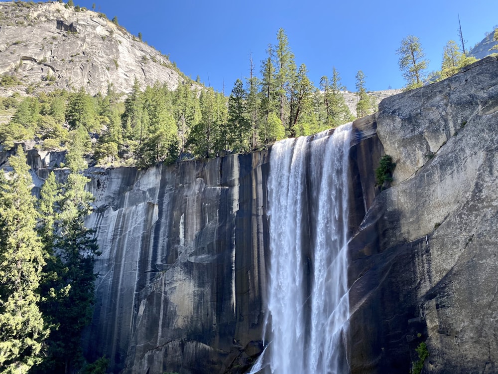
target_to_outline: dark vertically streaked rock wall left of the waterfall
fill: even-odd
[[[124,373],[223,373],[257,356],[266,157],[89,170],[103,251],[90,355]]]

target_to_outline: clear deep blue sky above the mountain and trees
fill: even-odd
[[[418,36],[429,70],[440,69],[443,47],[458,38],[458,14],[467,46],[498,24],[498,0],[73,0],[96,4],[133,34],[169,54],[185,74],[230,94],[237,78],[249,76],[249,55],[260,61],[276,32],[285,29],[296,64],[306,64],[315,86],[339,71],[355,91],[358,70],[367,90],[405,83],[395,54],[408,34]],[[209,77],[209,82],[208,82]]]

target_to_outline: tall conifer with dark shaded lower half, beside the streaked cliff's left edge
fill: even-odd
[[[40,192],[39,232],[48,253],[41,309],[56,328],[46,340],[44,361],[34,374],[68,374],[81,367],[81,334],[93,312],[93,265],[100,252],[94,231],[84,224],[93,196],[85,190],[89,179],[74,165],[72,170],[63,185],[50,175]]]

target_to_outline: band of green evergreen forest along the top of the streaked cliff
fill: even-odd
[[[12,117],[0,130],[0,142],[8,149],[36,140],[46,151],[77,148],[93,165],[144,168],[249,152],[354,119],[341,94],[339,72],[333,68],[316,88],[306,65],[296,65],[283,29],[266,55],[259,71],[249,61],[250,76],[237,79],[228,97],[185,80],[175,90],[159,83],[140,87],[135,81],[126,96],[111,83],[95,96],[80,88],[2,98],[0,109]],[[364,79],[359,87],[361,114],[372,113],[375,103],[366,95]]]

